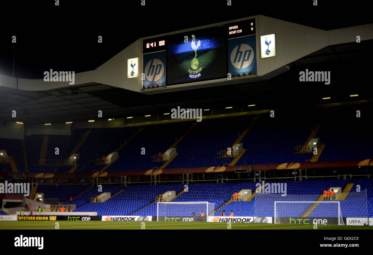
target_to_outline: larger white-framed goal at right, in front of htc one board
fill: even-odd
[[[275,223],[344,225],[339,201],[275,201],[274,209]]]

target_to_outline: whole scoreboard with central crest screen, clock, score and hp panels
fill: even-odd
[[[255,19],[143,40],[142,87],[256,73]]]

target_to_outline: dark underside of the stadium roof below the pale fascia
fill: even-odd
[[[335,86],[301,86],[294,77],[299,70],[317,66],[317,70],[338,71],[349,63],[359,62],[367,57],[367,48],[373,47],[373,40],[364,44],[349,43],[331,45],[289,64],[290,71],[269,80],[254,83],[217,86],[179,92],[144,95],[107,85],[91,83],[74,85],[44,91],[25,91],[0,86],[0,119],[12,121],[10,112],[17,111],[17,119],[27,124],[87,120],[97,117],[102,110],[106,118],[123,118],[144,114],[163,114],[175,106],[192,108],[222,108],[227,105],[247,106],[255,103],[256,109],[303,107],[323,104],[325,96],[329,102],[356,101],[369,102],[372,98],[371,86],[360,84],[359,76],[369,73],[369,66],[351,65],[346,76],[333,77]],[[368,56],[369,57],[369,56]],[[370,58],[372,53],[370,53]],[[334,68],[330,66],[335,66]],[[355,81],[355,83],[354,83]],[[358,85],[359,83],[360,85]],[[72,95],[76,91],[77,95]],[[311,92],[311,93],[310,93]],[[351,94],[359,94],[350,98]],[[362,101],[368,100],[368,101]]]

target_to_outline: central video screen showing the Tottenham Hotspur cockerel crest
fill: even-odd
[[[226,77],[224,27],[170,36],[167,44],[167,84]]]

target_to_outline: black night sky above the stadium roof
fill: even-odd
[[[0,73],[43,79],[44,71],[94,70],[141,37],[254,15],[324,30],[373,23],[364,0],[54,0],[0,2]],[[366,6],[366,8],[364,8]],[[16,44],[12,44],[12,36]],[[97,37],[103,36],[103,43]]]

